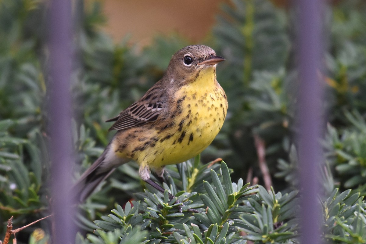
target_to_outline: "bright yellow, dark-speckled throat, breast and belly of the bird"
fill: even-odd
[[[149,146],[144,150],[132,150],[131,147],[120,157],[131,157],[139,165],[159,169],[193,158],[209,146],[224,123],[228,107],[214,68],[202,70],[195,82],[180,87],[175,93],[175,101],[174,106],[179,109],[172,118],[172,126],[164,130],[158,127],[143,129],[141,132]],[[145,143],[141,138],[139,141],[142,145]]]

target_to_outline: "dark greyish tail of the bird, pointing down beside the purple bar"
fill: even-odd
[[[119,159],[116,164],[116,157],[110,154],[110,144],[100,155],[100,157],[87,169],[72,187],[71,193],[74,199],[79,203],[85,201],[86,198],[96,189],[96,187],[104,181],[118,165],[123,164],[126,160]]]

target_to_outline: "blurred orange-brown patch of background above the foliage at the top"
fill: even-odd
[[[91,1],[91,0],[90,0]],[[208,35],[220,13],[222,3],[230,0],[100,0],[107,22],[104,30],[115,42],[130,34],[130,42],[149,44],[157,34],[179,33],[192,42]],[[286,0],[273,0],[286,5]]]

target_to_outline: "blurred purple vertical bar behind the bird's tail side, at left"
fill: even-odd
[[[51,0],[48,21],[49,131],[51,135],[52,243],[74,243],[70,198],[71,141],[71,0]]]

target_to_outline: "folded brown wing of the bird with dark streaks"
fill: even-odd
[[[164,90],[158,88],[158,86],[153,86],[141,100],[123,110],[119,116],[107,120],[107,122],[116,121],[109,130],[127,129],[157,120],[160,113],[164,112],[167,107],[165,106]]]

